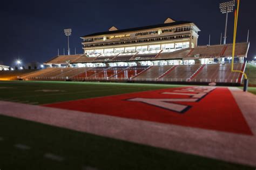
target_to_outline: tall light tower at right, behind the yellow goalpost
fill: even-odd
[[[235,6],[235,0],[229,2],[220,3],[220,12],[226,13],[226,26],[225,26],[225,34],[223,44],[226,44],[227,39],[227,16],[229,12],[233,12]]]

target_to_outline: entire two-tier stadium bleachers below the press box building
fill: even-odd
[[[235,56],[246,56],[248,43],[236,45]],[[92,67],[49,67],[47,69],[29,72],[21,76],[24,80],[33,79],[56,79],[56,80],[132,80],[132,81],[192,81],[192,82],[217,82],[217,83],[240,83],[241,74],[231,72],[231,64],[190,64],[190,65],[153,65],[152,61],[168,59],[201,59],[230,57],[232,55],[232,44],[197,46],[194,49],[186,48],[173,52],[158,50],[150,52],[127,52],[112,55],[97,55],[88,57],[86,55],[57,56],[45,64],[71,64],[83,63],[114,63],[107,66]],[[139,63],[139,61],[151,61],[151,63]],[[124,66],[123,62],[134,62],[137,66]],[[146,64],[146,65],[145,65]],[[156,63],[154,63],[156,64]],[[171,64],[171,63],[169,63]],[[110,65],[110,66],[109,66]],[[126,65],[126,64],[125,64]],[[129,64],[128,64],[129,65]],[[234,64],[235,70],[243,71],[245,65]],[[1,73],[0,73],[1,75]],[[2,76],[3,77],[3,76]],[[17,76],[16,76],[17,77]],[[0,77],[1,78],[1,77]]]

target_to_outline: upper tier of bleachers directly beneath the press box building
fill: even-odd
[[[235,56],[245,57],[247,55],[249,43],[237,43]],[[197,58],[196,58],[197,56]],[[175,59],[175,58],[210,58],[210,57],[230,57],[232,56],[232,44],[226,45],[205,45],[197,46],[194,49],[186,48],[173,52],[159,53],[116,53],[112,56],[98,55],[98,57],[87,57],[86,55],[57,56],[45,64],[66,64],[66,63],[96,63],[96,62],[127,62],[136,60],[152,59]]]

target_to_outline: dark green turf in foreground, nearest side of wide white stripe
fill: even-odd
[[[12,170],[82,169],[254,169],[196,155],[99,137],[0,115],[0,168]],[[28,150],[14,147],[30,146]],[[44,158],[52,153],[64,158]],[[84,168],[86,169],[86,168]]]

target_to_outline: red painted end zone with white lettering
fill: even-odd
[[[252,135],[227,87],[182,87],[44,106]]]

